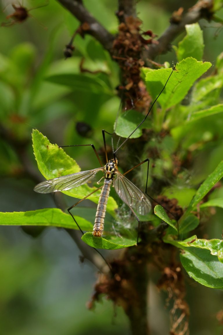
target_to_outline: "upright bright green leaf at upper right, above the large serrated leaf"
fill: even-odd
[[[181,61],[187,57],[193,57],[198,61],[203,59],[204,40],[203,32],[198,23],[185,25],[187,35],[179,42],[177,50],[177,59]]]

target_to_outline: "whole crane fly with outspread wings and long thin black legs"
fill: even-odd
[[[174,66],[174,69],[175,69],[175,66]],[[174,69],[173,69],[173,71],[174,71]],[[173,73],[173,71],[171,72],[171,74]],[[170,74],[170,76],[171,76],[171,74]],[[169,78],[170,78],[170,76],[169,76]],[[169,78],[168,78],[168,80],[169,80]],[[168,80],[166,81],[166,83],[165,83],[163,89],[161,90],[161,92],[159,93],[159,95],[164,90]],[[152,107],[153,107],[154,103],[156,102],[156,100],[158,99],[159,95],[154,100],[150,110],[152,109]],[[40,184],[37,184],[34,187],[34,191],[38,192],[38,193],[51,193],[51,192],[58,192],[58,191],[68,191],[70,189],[73,189],[75,187],[79,187],[83,184],[88,183],[89,181],[91,181],[96,176],[96,174],[99,171],[102,171],[104,173],[104,184],[102,186],[100,186],[99,188],[97,188],[96,190],[94,190],[93,192],[91,192],[89,195],[87,195],[83,199],[81,199],[80,201],[78,201],[76,204],[74,204],[73,206],[68,208],[68,212],[71,214],[71,216],[73,217],[77,226],[79,227],[81,232],[84,234],[84,232],[82,231],[82,229],[78,225],[76,219],[74,218],[73,214],[71,213],[71,209],[73,207],[75,207],[77,204],[79,204],[80,202],[82,202],[83,200],[85,200],[86,198],[88,198],[94,192],[101,189],[101,194],[100,194],[99,201],[98,201],[96,217],[95,217],[95,222],[94,222],[94,227],[93,227],[93,236],[101,237],[102,233],[103,233],[103,230],[104,230],[104,221],[105,221],[105,213],[106,213],[108,197],[109,197],[111,186],[113,186],[116,193],[118,194],[118,196],[121,198],[121,200],[125,204],[127,204],[129,206],[129,208],[131,209],[135,218],[137,219],[137,221],[138,221],[138,232],[139,232],[140,220],[139,220],[137,214],[135,213],[135,211],[138,214],[145,215],[150,211],[151,204],[150,204],[150,201],[148,200],[148,198],[145,196],[145,194],[142,191],[140,191],[139,188],[136,187],[124,175],[127,174],[128,172],[132,171],[133,169],[135,169],[137,166],[139,166],[139,165],[141,165],[145,162],[148,162],[148,165],[147,165],[147,180],[148,180],[149,159],[148,158],[145,159],[144,161],[140,162],[139,164],[137,164],[136,166],[132,167],[130,170],[125,172],[124,174],[121,174],[118,171],[117,151],[119,150],[119,148],[121,146],[123,146],[126,143],[126,141],[130,138],[130,136],[141,126],[141,124],[147,118],[150,110],[148,111],[145,118],[135,128],[135,130],[118,146],[118,148],[115,151],[113,150],[113,158],[110,159],[110,160],[108,160],[108,157],[107,157],[107,148],[106,148],[106,142],[105,142],[105,132],[106,131],[102,130],[103,140],[104,140],[104,148],[105,148],[105,156],[106,156],[106,161],[107,161],[107,163],[105,165],[102,164],[101,159],[100,159],[100,157],[99,157],[99,155],[98,155],[98,153],[97,153],[93,144],[80,145],[80,146],[87,146],[87,145],[92,146],[101,167],[98,167],[98,168],[93,169],[93,170],[81,171],[81,172],[77,172],[77,173],[74,173],[74,174],[71,174],[71,175],[66,175],[66,176],[46,180],[44,182],[41,182]],[[110,134],[110,133],[108,133],[108,134]],[[147,180],[146,180],[146,189],[147,189]],[[138,243],[138,236],[137,236],[137,243]]]

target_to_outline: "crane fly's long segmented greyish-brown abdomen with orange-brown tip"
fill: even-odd
[[[104,222],[105,222],[105,213],[106,213],[106,207],[110,192],[110,187],[112,184],[112,179],[105,179],[104,185],[101,190],[100,198],[98,201],[98,207],[95,217],[95,224],[93,227],[93,235],[94,236],[102,236],[103,229],[104,229]]]

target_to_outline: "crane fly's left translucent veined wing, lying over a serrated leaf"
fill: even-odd
[[[67,191],[87,183],[89,180],[95,177],[98,171],[103,170],[103,167],[99,167],[98,169],[94,170],[81,171],[73,173],[72,175],[45,180],[44,182],[37,184],[34,187],[34,191],[38,193]]]

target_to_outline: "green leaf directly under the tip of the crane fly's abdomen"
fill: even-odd
[[[82,241],[96,249],[116,250],[136,245],[136,241],[127,238],[119,238],[116,236],[108,236],[106,239],[95,237],[91,232],[87,232],[82,236]]]

